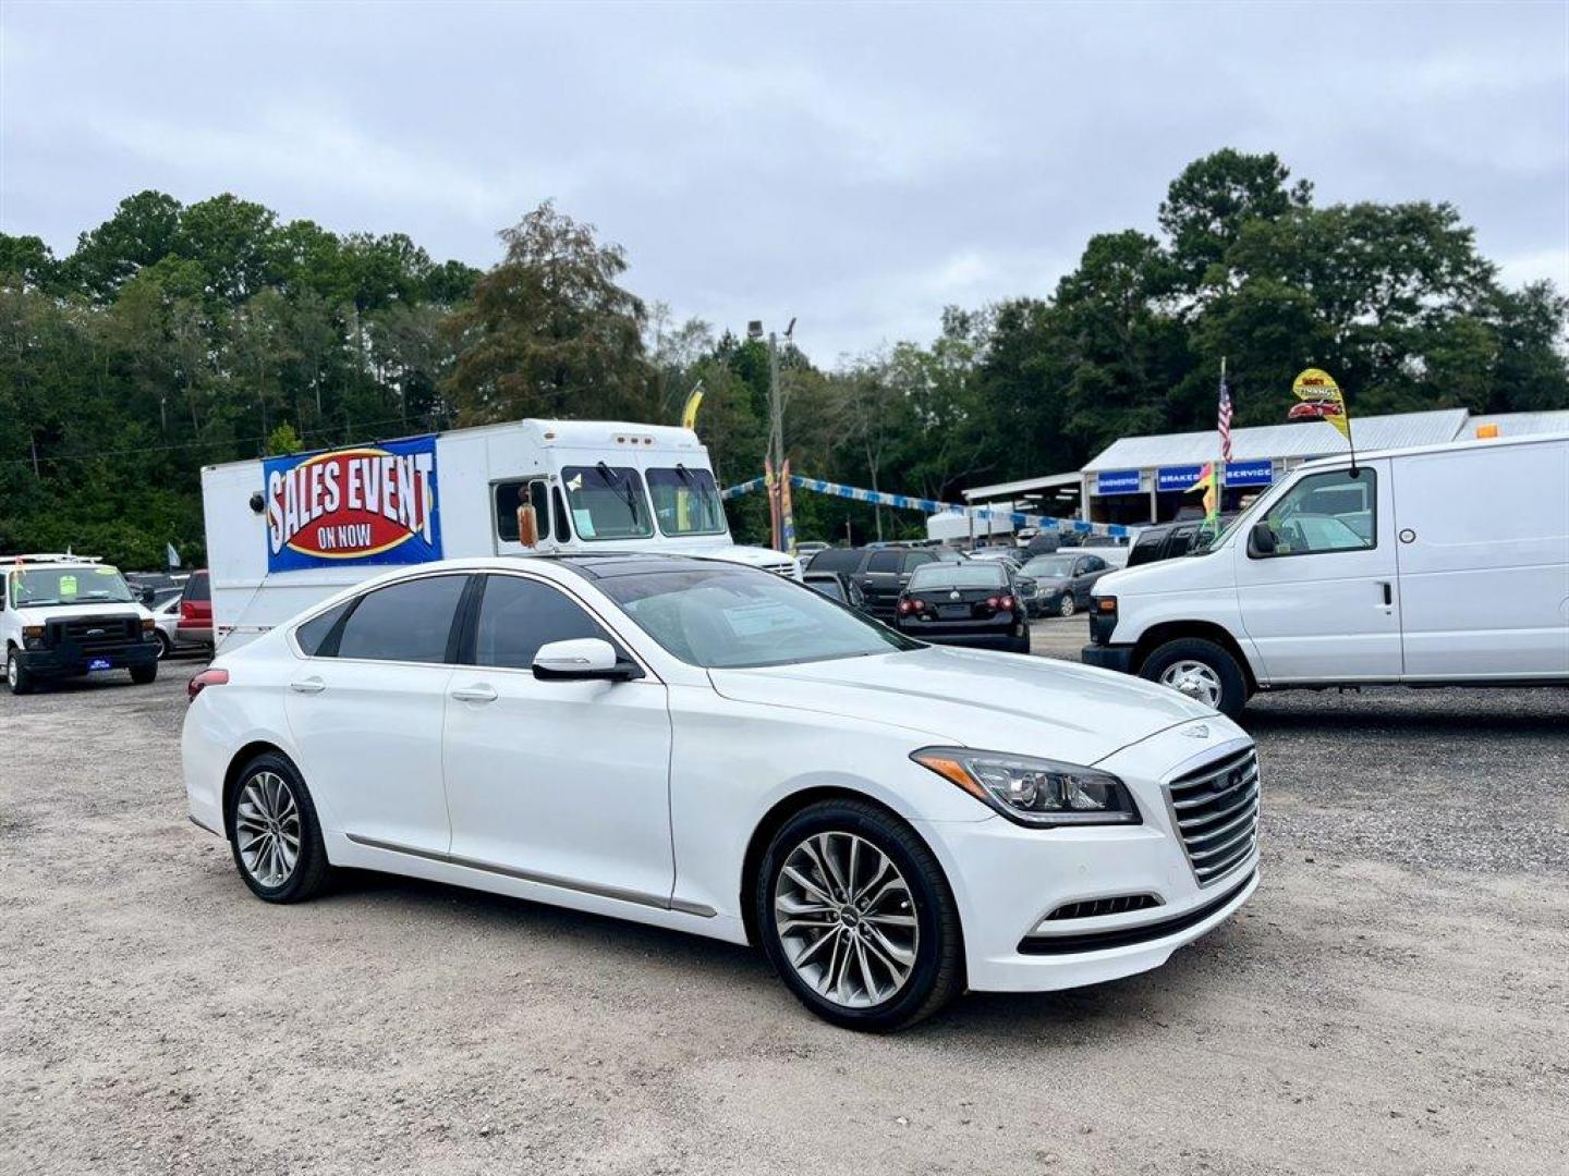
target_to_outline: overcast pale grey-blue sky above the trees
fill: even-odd
[[[546,198],[816,361],[1047,295],[1224,146],[1569,276],[1569,5],[0,5],[0,229],[143,188],[491,265]]]

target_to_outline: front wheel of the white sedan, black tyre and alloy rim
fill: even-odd
[[[963,989],[959,908],[937,858],[885,809],[811,804],[758,866],[756,925],[769,961],[835,1025],[913,1025]]]

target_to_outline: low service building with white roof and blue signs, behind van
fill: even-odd
[[[1359,452],[1437,445],[1461,437],[1569,433],[1569,411],[1472,416],[1464,408],[1352,417]],[[1255,425],[1232,430],[1232,461],[1225,467],[1222,510],[1246,506],[1261,489],[1304,461],[1346,452],[1340,433],[1323,420]],[[1188,492],[1207,463],[1219,456],[1219,436],[1167,433],[1120,437],[1073,474],[1050,474],[965,491],[971,505],[1014,503],[1014,510],[1054,517],[1145,525],[1175,519],[1183,506],[1199,506]]]

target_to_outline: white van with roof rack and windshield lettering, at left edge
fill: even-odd
[[[129,670],[158,676],[152,613],[118,568],[78,555],[0,558],[0,649],[13,695],[50,677]]]

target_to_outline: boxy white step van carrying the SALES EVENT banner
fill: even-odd
[[[452,557],[664,550],[800,579],[789,555],[736,546],[708,450],[667,425],[516,420],[209,466],[202,511],[220,651]]]

